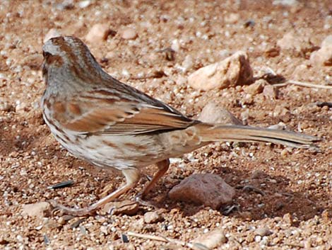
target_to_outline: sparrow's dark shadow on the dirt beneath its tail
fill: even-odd
[[[224,205],[218,210],[220,215],[237,217],[242,220],[263,220],[290,214],[297,218],[297,223],[300,223],[315,215],[320,215],[324,210],[332,212],[329,205],[331,198],[328,197],[328,194],[315,195],[307,189],[292,191],[292,180],[285,176],[263,173],[259,178],[251,178],[248,171],[227,167],[221,167],[214,174],[224,178],[236,191],[232,203]],[[236,178],[234,178],[235,176]],[[236,181],[232,181],[234,179]],[[157,208],[167,208],[169,211],[176,209],[184,217],[190,217],[205,209],[203,205],[170,200],[167,196],[170,189],[165,188],[165,185],[162,186],[160,183],[155,187],[157,190],[162,190],[160,195],[151,193],[147,198],[156,200],[153,205]]]

